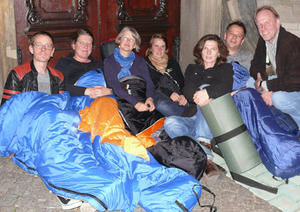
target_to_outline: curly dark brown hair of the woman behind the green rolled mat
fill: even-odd
[[[228,50],[227,47],[225,46],[224,42],[221,40],[221,38],[218,35],[215,34],[207,34],[204,35],[195,45],[194,47],[194,56],[196,57],[195,62],[198,64],[203,65],[204,61],[202,58],[202,50],[204,48],[204,44],[206,41],[208,40],[213,40],[216,41],[218,43],[218,49],[219,49],[219,53],[220,53],[220,57],[217,60],[217,64],[220,63],[225,63],[226,62],[226,58],[228,56]]]

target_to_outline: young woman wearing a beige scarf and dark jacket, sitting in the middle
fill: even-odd
[[[184,77],[176,60],[168,58],[168,40],[154,34],[146,51],[146,63],[155,85],[154,104],[164,116],[181,115],[187,100],[182,94]]]

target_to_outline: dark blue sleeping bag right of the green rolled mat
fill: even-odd
[[[282,178],[300,174],[299,132],[282,128],[256,90],[239,91],[233,99],[266,168]]]

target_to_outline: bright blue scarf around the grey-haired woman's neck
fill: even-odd
[[[119,48],[115,48],[114,51],[114,57],[115,60],[120,64],[121,66],[121,70],[118,74],[118,79],[122,79],[124,77],[130,76],[131,72],[130,72],[130,67],[132,62],[134,61],[135,58],[135,54],[133,53],[133,51],[131,51],[130,55],[128,57],[123,57],[120,54],[120,49]]]

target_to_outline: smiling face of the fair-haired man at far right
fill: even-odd
[[[269,10],[262,10],[256,15],[255,19],[258,32],[265,40],[273,43],[280,29],[280,20]]]

